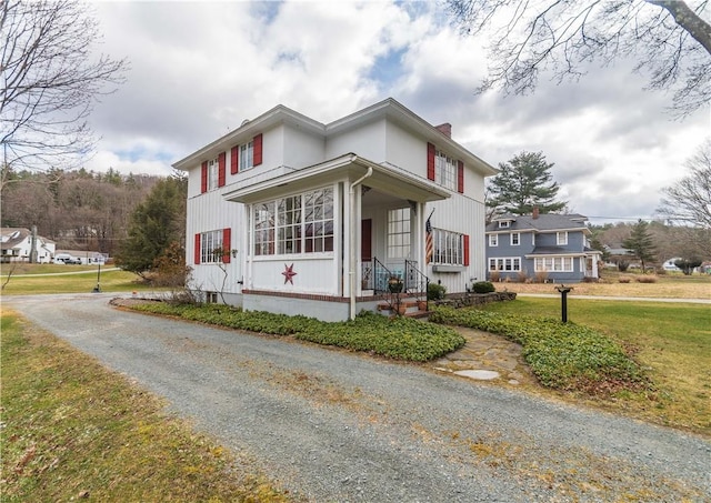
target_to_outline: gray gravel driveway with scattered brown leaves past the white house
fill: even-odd
[[[711,501],[711,443],[284,339],[4,298],[316,502]]]

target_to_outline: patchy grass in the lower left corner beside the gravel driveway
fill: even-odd
[[[123,376],[13,312],[1,323],[3,502],[288,501]]]

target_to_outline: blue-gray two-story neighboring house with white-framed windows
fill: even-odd
[[[487,225],[489,279],[575,283],[598,279],[602,253],[590,248],[581,214],[503,214]]]

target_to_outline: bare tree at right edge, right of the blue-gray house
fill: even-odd
[[[685,167],[689,174],[662,190],[657,210],[668,221],[711,231],[711,140],[707,140]]]

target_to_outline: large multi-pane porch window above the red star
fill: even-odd
[[[333,251],[333,189],[254,204],[254,254]]]

